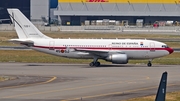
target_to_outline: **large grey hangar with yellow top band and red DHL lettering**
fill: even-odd
[[[137,20],[143,20],[143,23],[179,21],[180,0],[58,0],[54,15],[63,25],[108,19],[128,23]]]

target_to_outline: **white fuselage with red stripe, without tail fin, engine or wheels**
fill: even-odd
[[[99,51],[101,58],[113,53],[125,53],[128,59],[153,59],[170,54],[166,44],[152,40],[131,39],[28,39],[34,42],[31,47],[44,53],[68,58],[93,58],[88,52]],[[104,52],[104,53],[103,53]]]

